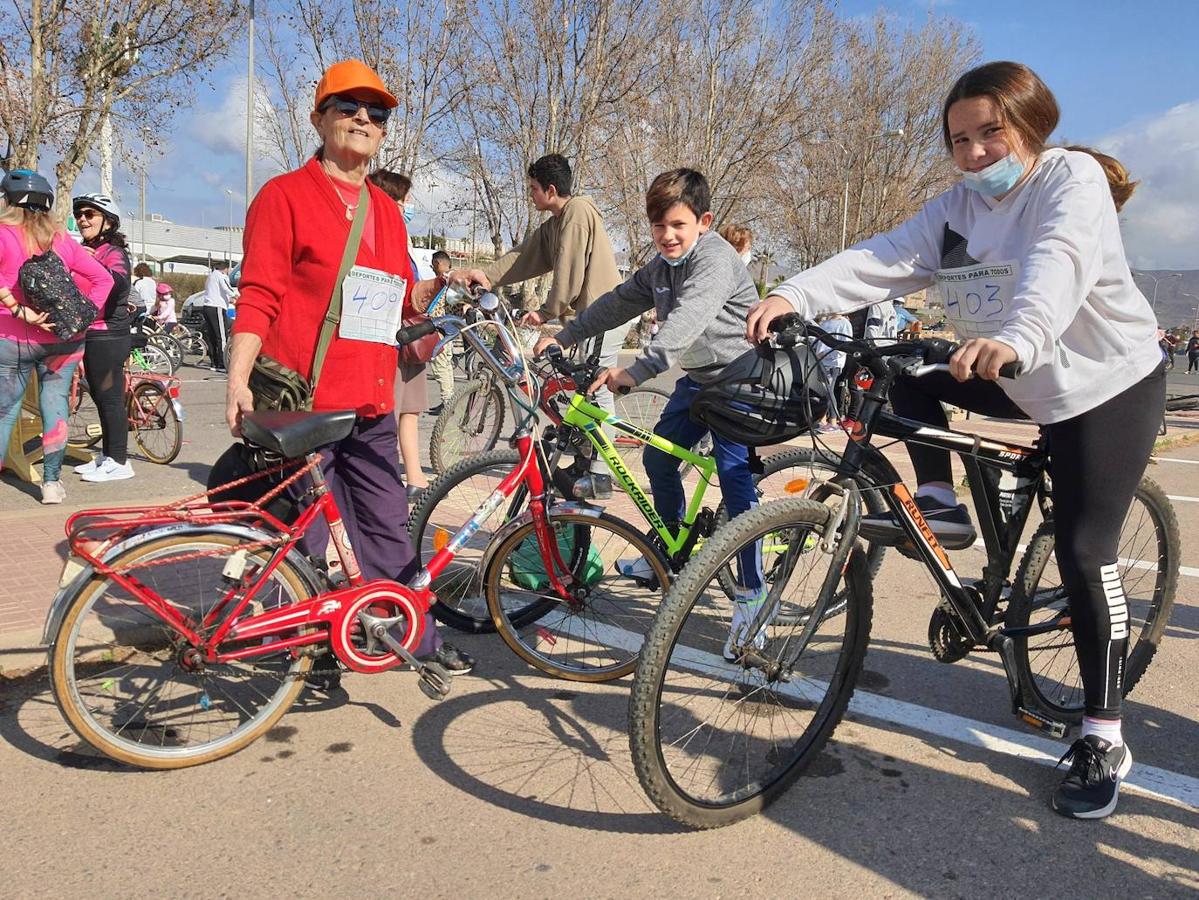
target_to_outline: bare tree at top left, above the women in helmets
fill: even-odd
[[[167,122],[227,52],[237,0],[30,0],[0,11],[0,127],[11,164],[55,165],[59,209],[106,117]],[[19,48],[19,50],[17,49]]]

